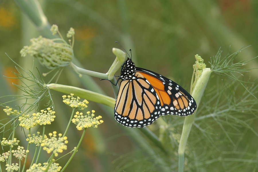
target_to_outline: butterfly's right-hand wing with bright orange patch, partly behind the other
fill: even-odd
[[[196,110],[196,102],[183,87],[155,72],[138,68],[136,71],[144,76],[159,96],[161,115],[188,116]]]

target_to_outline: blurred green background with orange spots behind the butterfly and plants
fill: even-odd
[[[229,49],[233,53],[242,47],[251,45],[237,56],[236,61],[250,60],[258,54],[258,1],[254,0],[42,0],[40,4],[48,22],[51,25],[58,25],[63,37],[70,27],[75,29],[75,56],[85,69],[92,71],[101,73],[108,71],[115,59],[112,48],[122,49],[119,44],[114,43],[118,41],[128,52],[129,49],[132,49],[132,60],[137,67],[149,69],[173,79],[189,91],[195,54],[202,56],[207,67],[210,67],[208,63],[210,57],[216,55],[220,47],[225,56]],[[2,75],[14,77],[11,71],[15,72],[16,70],[15,64],[5,53],[24,69],[32,69],[32,58],[21,57],[19,51],[23,46],[30,45],[30,38],[38,37],[42,35],[42,32],[22,13],[13,0],[0,0],[0,31]],[[37,59],[34,64],[39,68],[41,74],[48,72],[48,69],[40,66]],[[247,68],[257,67],[257,59],[247,66]],[[76,76],[77,74],[67,67],[58,83],[87,89],[87,86],[83,85]],[[257,77],[258,71],[252,70],[245,74],[243,80],[256,82]],[[44,80],[47,82],[50,78],[51,76],[47,76]],[[212,74],[212,78],[213,80],[208,85],[210,87],[216,85],[217,82],[214,74]],[[107,95],[114,97],[108,81],[93,79]],[[11,83],[19,84],[19,81],[1,78],[0,96],[20,93]],[[223,83],[216,89],[219,87],[224,87]],[[51,93],[57,118],[54,122],[55,125],[48,127],[46,133],[54,130],[62,133],[69,120],[71,109],[62,104],[62,93],[56,91],[51,91]],[[87,97],[82,98],[87,99]],[[7,98],[0,100],[5,102]],[[208,95],[204,100],[209,100]],[[150,168],[151,161],[146,158],[144,152],[139,149],[139,145],[128,136],[128,133],[119,126],[115,119],[109,118],[110,115],[107,115],[109,112],[105,111],[102,106],[90,102],[88,110],[92,109],[96,111],[95,114],[103,117],[104,123],[99,126],[97,131],[90,128],[86,132],[83,144],[79,148],[76,158],[66,169],[67,171],[143,171],[146,169],[147,172],[158,170]],[[1,116],[5,115],[3,112],[0,114]],[[1,119],[3,118],[6,117],[1,117]],[[258,121],[253,116],[250,118],[252,118],[252,121],[249,120],[252,122],[251,128],[257,132],[258,128],[255,124]],[[183,118],[178,121],[183,121]],[[157,125],[150,126],[150,129],[158,135],[159,127]],[[242,133],[245,129],[240,128],[240,131]],[[218,132],[223,131],[219,130]],[[175,131],[175,133],[181,134],[181,130]],[[190,137],[191,134],[198,137],[196,133],[190,133]],[[80,135],[81,132],[77,131],[75,127],[70,128],[67,135],[70,149],[76,146]],[[250,132],[247,137],[251,141],[246,140],[243,143],[243,150],[247,149],[246,152],[256,153],[257,136]],[[220,138],[217,139],[220,140]],[[252,144],[246,148],[245,144],[248,142]],[[226,146],[228,145],[234,147],[234,144],[230,144],[230,142],[227,142]],[[176,145],[174,149],[177,150]],[[42,157],[42,162],[44,162],[44,157]],[[228,169],[223,165],[217,170],[214,169],[218,164],[220,163],[209,163],[208,165],[204,163],[204,165],[200,165],[202,166],[200,168],[189,166],[189,168],[185,168],[185,171],[220,171],[223,168],[225,171],[236,170]],[[63,166],[61,162],[60,165]],[[171,169],[176,165],[171,165]],[[243,169],[248,167],[248,171],[255,171],[257,163],[245,164],[237,168],[241,169],[241,167]]]

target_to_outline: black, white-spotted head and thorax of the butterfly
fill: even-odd
[[[127,60],[124,62],[124,65],[122,66],[120,78],[122,80],[135,79],[135,76],[134,76],[134,74],[136,73],[135,70],[136,70],[136,67],[134,62],[132,62],[130,58],[127,58]]]

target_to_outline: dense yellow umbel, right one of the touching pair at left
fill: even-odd
[[[54,121],[54,118],[56,118],[56,116],[54,116],[54,114],[56,113],[55,111],[50,110],[50,108],[47,108],[48,111],[44,111],[41,110],[38,113],[34,113],[32,114],[34,117],[33,119],[35,120],[36,124],[39,125],[50,125],[51,122]]]

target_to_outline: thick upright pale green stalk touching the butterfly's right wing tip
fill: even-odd
[[[208,80],[210,78],[211,72],[212,71],[210,70],[210,68],[205,68],[203,70],[202,75],[198,79],[198,81],[195,85],[195,88],[193,89],[193,93],[191,94],[196,101],[197,108],[200,104],[202,95],[204,93],[204,90],[205,90]],[[188,136],[191,131],[191,127],[192,127],[195,115],[196,115],[196,111],[192,115],[185,117],[185,121],[183,124],[183,130],[182,130],[179,147],[178,147],[178,156],[179,156],[178,171],[179,172],[183,172],[183,170],[184,170],[185,146],[186,146],[187,139],[188,139]]]

